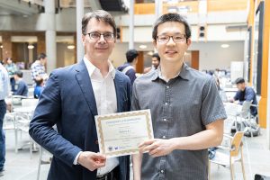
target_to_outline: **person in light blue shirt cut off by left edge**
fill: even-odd
[[[4,161],[5,161],[5,136],[3,130],[4,114],[6,112],[6,105],[4,98],[9,94],[8,92],[9,78],[6,69],[0,63],[0,176],[4,175]]]

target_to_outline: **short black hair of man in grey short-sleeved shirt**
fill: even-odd
[[[183,23],[186,42],[191,37],[190,26],[186,22],[186,20],[184,19],[184,17],[182,15],[180,15],[180,14],[163,14],[157,19],[156,23],[154,24],[154,29],[152,31],[153,40],[157,40],[157,27],[158,27],[158,25],[160,25],[161,23],[166,23],[166,22]]]

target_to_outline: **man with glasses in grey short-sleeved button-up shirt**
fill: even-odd
[[[215,80],[184,64],[191,30],[181,15],[159,17],[152,38],[160,65],[135,80],[131,109],[150,109],[155,139],[132,156],[134,180],[206,180],[207,148],[220,144],[226,119]]]

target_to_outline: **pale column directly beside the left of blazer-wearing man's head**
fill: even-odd
[[[85,48],[82,41],[82,18],[85,12],[84,0],[76,0],[76,61],[83,59]]]

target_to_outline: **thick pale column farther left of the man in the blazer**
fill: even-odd
[[[53,69],[57,67],[55,1],[44,1],[44,4],[47,21],[47,30],[45,32],[47,73],[49,74]]]

